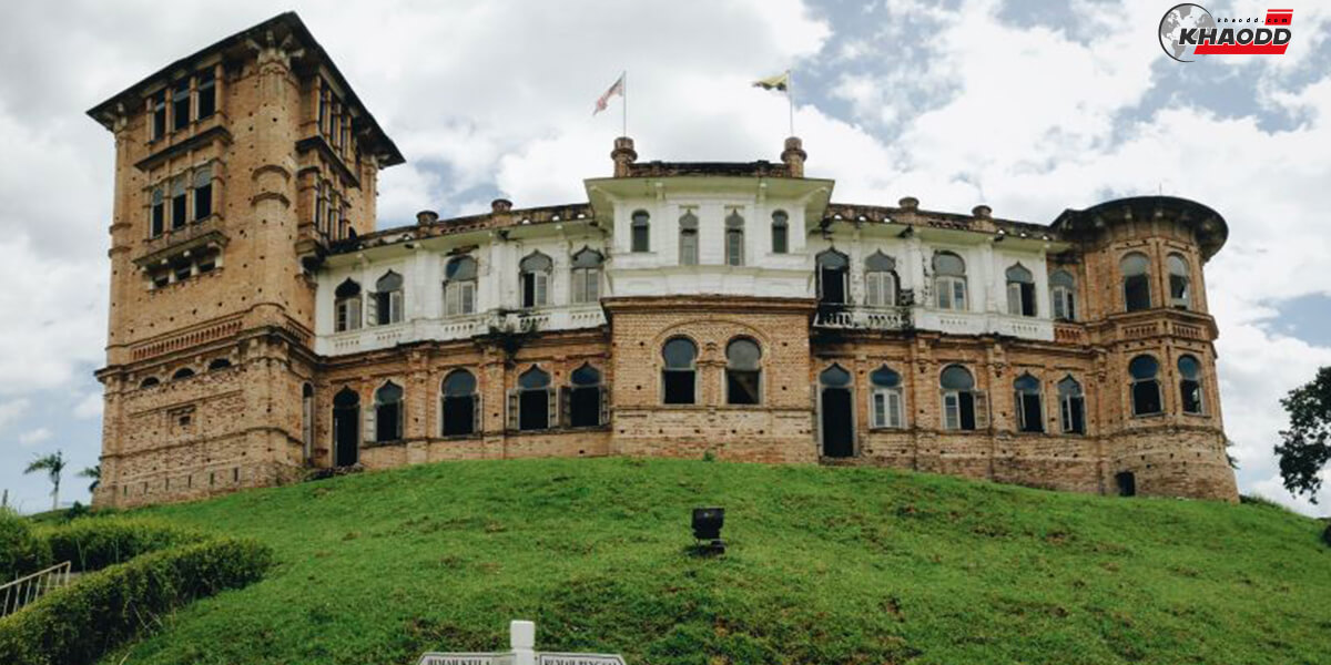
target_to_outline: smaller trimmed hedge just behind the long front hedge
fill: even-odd
[[[43,532],[56,561],[76,571],[100,571],[158,549],[198,543],[204,535],[145,517],[80,517]]]

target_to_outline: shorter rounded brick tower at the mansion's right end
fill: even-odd
[[[1236,496],[1202,282],[1202,265],[1225,243],[1223,218],[1194,201],[1137,197],[1067,210],[1053,226],[1078,251],[1053,257],[1050,271],[1089,285],[1077,318],[1105,395],[1095,418],[1117,485],[1106,491]]]

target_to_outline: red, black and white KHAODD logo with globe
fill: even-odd
[[[1282,56],[1294,9],[1267,9],[1266,20],[1217,19],[1199,4],[1179,4],[1161,19],[1161,48],[1179,63],[1194,56]]]

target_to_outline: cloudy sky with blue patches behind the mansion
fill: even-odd
[[[407,157],[383,174],[379,226],[421,209],[582,200],[606,176],[628,70],[643,158],[775,160],[792,68],[811,176],[836,200],[977,203],[1049,222],[1065,207],[1165,193],[1230,222],[1206,267],[1239,485],[1280,487],[1279,398],[1331,364],[1331,7],[1294,7],[1284,56],[1165,56],[1171,1],[909,0],[290,3]],[[1264,3],[1205,3],[1217,17]],[[49,507],[39,454],[96,463],[112,137],[84,110],[166,63],[268,19],[258,0],[20,1],[0,25],[0,488]],[[616,102],[618,104],[618,102]],[[67,473],[63,499],[87,501]]]

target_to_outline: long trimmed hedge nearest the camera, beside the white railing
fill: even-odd
[[[253,540],[210,540],[152,552],[80,577],[0,618],[0,662],[83,665],[148,630],[194,598],[260,580],[272,551]]]

